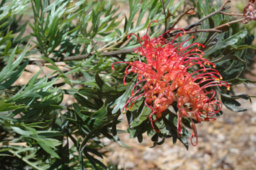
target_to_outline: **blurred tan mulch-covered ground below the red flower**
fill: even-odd
[[[256,95],[255,85],[240,85],[235,91]],[[179,141],[174,145],[172,139],[150,148],[153,143],[147,135],[139,143],[126,133],[120,137],[131,149],[111,143],[107,160],[125,170],[256,169],[256,99],[240,103],[247,111],[235,113],[224,108],[216,121],[197,125],[199,143],[196,147],[189,144],[188,151]],[[127,123],[123,121],[120,128],[126,129]]]

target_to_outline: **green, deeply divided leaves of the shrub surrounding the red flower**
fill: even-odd
[[[164,1],[167,28],[175,23],[185,5],[185,1],[174,2]],[[199,18],[217,10],[211,1],[199,2],[192,2]],[[137,77],[128,75],[127,84],[123,85],[125,64],[115,65],[115,71],[111,70],[111,65],[137,60],[138,56],[134,53],[107,53],[138,47],[137,39],[128,41],[127,35],[145,31],[153,20],[159,22],[151,25],[149,33],[152,37],[161,35],[165,15],[161,2],[157,0],[129,0],[125,4],[129,5],[125,17],[123,9],[115,3],[93,0],[1,1],[0,167],[117,169],[115,165],[103,164],[103,139],[129,148],[119,139],[119,133],[129,133],[129,137],[137,137],[139,142],[143,141],[143,133],[147,133],[153,146],[172,137],[173,143],[179,140],[188,148],[190,120],[183,119],[187,129],[183,128],[181,137],[178,137],[177,108],[167,109],[154,123],[161,133],[152,128],[150,109],[145,106],[143,98],[122,115]],[[210,29],[227,21],[228,16],[218,14],[204,21],[201,28]],[[244,77],[251,61],[249,50],[255,49],[251,46],[254,37],[246,29],[240,31],[239,25],[233,25],[224,33],[199,33],[195,36],[197,42],[205,44],[205,57],[215,63],[225,81],[231,85],[255,83]],[[77,55],[83,59],[77,59]],[[31,72],[29,66],[35,69],[37,65],[39,71],[26,77],[23,84],[17,83]],[[216,90],[227,108],[245,110],[239,107],[236,99],[250,99],[249,95],[234,96],[232,91]],[[128,120],[127,131],[117,129],[123,116]]]

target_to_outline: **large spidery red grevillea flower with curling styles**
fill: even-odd
[[[183,29],[178,30],[183,31],[183,34],[186,33]],[[141,40],[137,37],[139,42],[143,41],[143,43],[134,52],[144,56],[147,63],[117,62],[129,64],[125,69],[124,84],[128,74],[138,75],[138,81],[133,87],[131,97],[123,107],[123,113],[125,109],[132,108],[137,99],[145,97],[145,105],[151,109],[149,120],[155,129],[153,122],[157,121],[162,116],[162,112],[175,101],[178,108],[177,134],[181,135],[183,117],[188,117],[191,119],[190,126],[193,129],[191,143],[193,144],[192,138],[196,137],[195,145],[197,145],[197,129],[192,119],[198,123],[213,121],[215,120],[213,116],[221,110],[223,105],[221,101],[214,99],[214,90],[207,91],[206,89],[223,86],[229,90],[230,86],[225,81],[221,81],[222,77],[214,69],[215,65],[203,58],[204,53],[199,47],[203,48],[204,45],[192,43],[183,47],[187,41],[194,38],[193,36],[183,43],[175,43],[175,40],[183,34],[179,33],[171,41],[167,41],[163,35],[150,39],[146,33]],[[128,39],[131,35],[135,34],[131,33]],[[112,69],[114,69],[113,65]],[[157,129],[155,131],[159,132]]]

